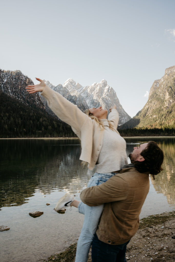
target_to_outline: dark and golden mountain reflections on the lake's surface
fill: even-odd
[[[174,192],[174,139],[151,139],[163,150],[163,171],[151,179],[157,193],[167,197],[168,204],[175,204]],[[146,138],[126,138],[127,155]],[[79,155],[78,139],[72,140],[0,140],[0,207],[19,206],[28,202],[35,192],[50,194],[68,191],[76,194],[87,186],[93,174],[83,168]]]

